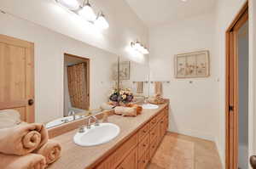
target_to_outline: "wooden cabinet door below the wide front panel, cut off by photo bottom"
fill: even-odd
[[[125,160],[117,167],[117,169],[137,169],[137,148],[125,157]]]

